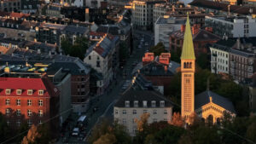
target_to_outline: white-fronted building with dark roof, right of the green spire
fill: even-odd
[[[230,49],[236,41],[222,39],[210,46],[211,50],[211,72],[226,73],[230,70]]]

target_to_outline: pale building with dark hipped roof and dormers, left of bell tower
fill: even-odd
[[[154,91],[130,90],[113,107],[114,120],[125,125],[130,135],[137,131],[136,119],[149,113],[148,124],[160,121],[171,122],[172,103]]]

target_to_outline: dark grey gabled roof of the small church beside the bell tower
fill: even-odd
[[[206,90],[206,91],[202,92],[201,94],[195,95],[195,109],[198,109],[198,108],[206,105],[207,103],[209,103],[210,96],[212,96],[212,103],[214,103],[220,107],[224,107],[224,109],[226,109],[227,111],[236,113],[236,110],[235,110],[232,102],[229,99],[227,99],[221,95],[218,95],[218,94],[212,92],[211,90]]]

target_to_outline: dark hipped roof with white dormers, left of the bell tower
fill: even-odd
[[[156,101],[156,107],[160,107],[160,101],[165,101],[165,107],[173,107],[172,102],[167,100],[163,95],[149,90],[129,90],[122,95],[114,107],[125,107],[125,101],[130,101],[130,107],[134,107],[134,101],[138,101],[138,107],[143,107],[143,101],[148,101],[147,106],[151,106],[151,101]]]

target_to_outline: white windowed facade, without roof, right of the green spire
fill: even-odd
[[[230,72],[230,54],[221,49],[211,50],[211,72],[212,73],[226,73]]]

